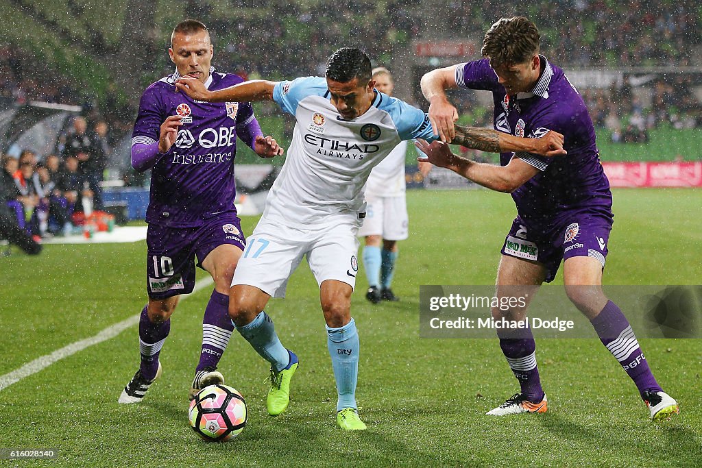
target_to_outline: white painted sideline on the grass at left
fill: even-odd
[[[183,295],[180,297],[180,300],[185,300],[191,295],[194,295],[194,293],[197,293],[197,291],[206,288],[207,286],[210,286],[213,283],[212,278],[210,276],[207,277],[207,279],[204,279],[202,281],[198,281],[195,283],[195,287],[192,290],[192,293],[188,295]],[[13,385],[16,382],[19,382],[25,377],[29,377],[29,375],[36,374],[40,370],[44,370],[48,366],[51,366],[51,364],[55,363],[56,361],[60,361],[61,359],[71,356],[72,354],[76,354],[79,351],[82,351],[83,349],[86,349],[87,347],[91,347],[93,345],[97,345],[98,343],[101,343],[106,340],[110,340],[110,338],[116,337],[119,335],[119,333],[122,333],[124,330],[127,328],[136,325],[139,323],[139,317],[141,316],[141,312],[139,314],[135,314],[128,319],[125,319],[121,322],[117,322],[114,325],[111,325],[104,330],[100,331],[95,336],[86,338],[85,340],[80,340],[77,342],[73,342],[70,345],[67,345],[65,347],[62,347],[61,349],[57,349],[55,352],[51,354],[46,354],[45,356],[41,356],[37,359],[34,359],[34,361],[26,363],[24,366],[13,370],[10,373],[6,373],[5,375],[0,376],[0,392],[2,392],[4,389],[9,387],[10,385]]]

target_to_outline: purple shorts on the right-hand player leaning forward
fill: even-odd
[[[602,264],[607,258],[607,241],[612,222],[608,218],[574,214],[549,229],[527,229],[522,218],[515,218],[505,238],[503,255],[533,260],[546,267],[547,283],[553,281],[561,260],[592,257]]]

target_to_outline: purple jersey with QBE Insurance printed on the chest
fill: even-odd
[[[241,138],[255,122],[250,102],[201,102],[176,93],[178,72],[146,88],[139,103],[132,142],[159,140],[161,123],[183,116],[176,142],[152,168],[146,221],[171,227],[195,227],[220,213],[233,212],[236,185],[234,156]],[[244,81],[235,74],[214,73],[205,85],[215,91]],[[258,123],[256,123],[258,126]]]

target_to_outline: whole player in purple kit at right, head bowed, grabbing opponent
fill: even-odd
[[[635,382],[651,418],[660,420],[678,412],[677,402],[658,386],[629,322],[602,292],[614,217],[592,121],[562,69],[539,55],[539,37],[536,25],[527,18],[502,18],[485,34],[483,60],[423,76],[422,91],[430,101],[432,128],[442,141],[431,145],[418,142],[427,154],[420,160],[512,194],[517,218],[502,249],[496,294],[507,297],[536,292],[543,281],[552,281],[563,260],[568,297],[590,319],[602,344]],[[503,152],[501,166],[492,166],[452,154],[446,143],[463,145],[466,138],[454,129],[458,114],[446,99],[444,90],[449,88],[492,91],[497,130],[532,138],[557,131],[563,134],[567,155],[548,158],[529,152]],[[494,136],[481,138],[487,150],[496,149],[491,138],[494,140]],[[506,312],[496,308],[492,314],[498,320],[521,321],[527,307]],[[498,330],[498,337],[521,390],[487,414],[544,413],[547,400],[531,330]]]

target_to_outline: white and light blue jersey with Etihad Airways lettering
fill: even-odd
[[[428,116],[376,91],[370,109],[352,121],[329,101],[326,79],[310,76],[277,83],[273,100],[296,119],[282,171],[263,218],[298,229],[362,224],[363,187],[373,167],[403,140],[435,140]]]

